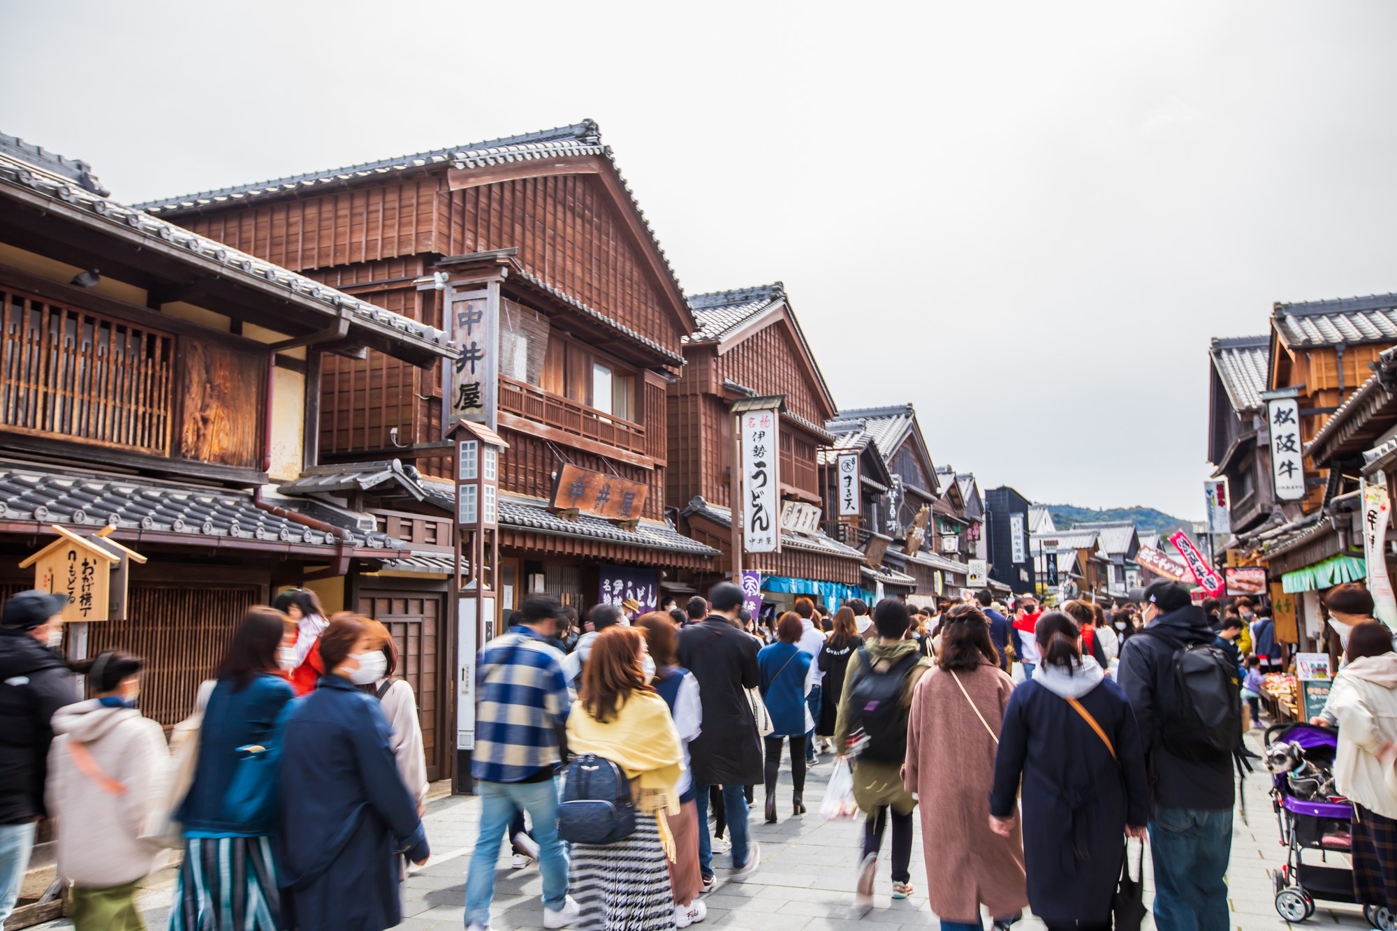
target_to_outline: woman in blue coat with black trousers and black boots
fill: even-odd
[[[810,693],[809,653],[796,646],[805,625],[800,615],[788,611],[777,623],[777,642],[761,647],[757,653],[757,667],[761,668],[761,700],[766,702],[771,724],[775,727],[764,742],[767,745],[767,823],[777,822],[777,770],[781,769],[781,741],[791,741],[791,781],[795,784],[796,815],[805,814],[805,739],[810,727],[806,723],[805,696]]]

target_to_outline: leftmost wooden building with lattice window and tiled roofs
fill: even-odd
[[[68,650],[144,656],[147,716],[189,714],[275,589],[342,587],[407,552],[359,502],[277,489],[316,460],[316,359],[429,370],[454,354],[430,322],[119,204],[82,162],[13,137],[0,316],[0,596],[35,587],[17,565],[53,524],[140,551],[120,619],[70,625]]]

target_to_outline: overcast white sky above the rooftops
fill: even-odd
[[[1034,500],[1203,512],[1207,342],[1397,291],[1397,4],[0,0],[0,131],[119,200],[567,124],[689,294]]]

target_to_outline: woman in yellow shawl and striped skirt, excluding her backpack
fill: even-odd
[[[655,665],[636,628],[610,626],[592,642],[583,688],[567,716],[567,746],[597,753],[630,777],[636,830],[613,844],[573,844],[571,895],[581,931],[657,931],[675,927],[666,860],[675,844],[665,818],[678,815],[675,783],[683,751],[669,706],[650,679]]]

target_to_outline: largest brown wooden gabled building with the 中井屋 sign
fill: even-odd
[[[500,629],[525,593],[580,609],[619,601],[617,591],[650,605],[665,587],[689,590],[693,573],[714,563],[717,549],[666,520],[665,391],[694,319],[595,123],[145,207],[386,313],[441,326],[460,344],[446,370],[373,349],[307,362],[320,384],[310,464],[338,470],[345,484],[323,496],[355,495],[356,475],[401,460],[415,470],[415,492],[404,498],[388,485],[394,496],[370,510],[384,527],[412,533],[414,547],[415,534],[426,534],[423,556],[351,582],[339,593],[346,604],[393,623],[439,618],[423,640],[451,661],[457,568],[434,548],[441,519],[454,526],[460,516],[455,443],[444,432],[461,418],[507,443],[492,514],[497,597],[495,614],[471,632],[476,642]],[[313,488],[316,475],[296,486]],[[455,678],[437,685],[443,706],[454,700]],[[467,724],[457,734],[462,748],[472,739]]]

